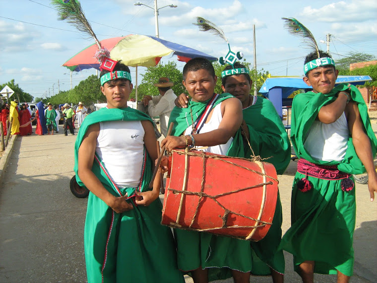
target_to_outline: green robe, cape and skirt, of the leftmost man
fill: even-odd
[[[92,124],[119,120],[151,121],[149,116],[132,108],[102,108],[88,115],[81,124],[75,142],[74,171],[80,186],[84,184],[77,174],[78,149],[86,131]],[[153,161],[145,146],[144,152],[140,154],[144,155],[141,191],[146,191],[149,190]],[[92,171],[110,193],[119,196],[96,160]],[[131,196],[136,188],[119,189],[122,195],[128,193]],[[148,207],[135,206],[132,199],[127,202],[133,205],[133,210],[116,213],[101,199],[89,193],[84,230],[88,282],[184,283],[183,274],[177,268],[172,232],[160,224],[162,204],[159,198]]]

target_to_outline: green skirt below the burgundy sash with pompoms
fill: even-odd
[[[304,261],[314,261],[314,273],[340,271],[352,276],[355,188],[344,192],[341,180],[308,176],[314,189],[303,193],[297,188],[302,178],[305,175],[297,172],[292,190],[292,227],[283,236],[280,248],[293,254],[296,272]]]

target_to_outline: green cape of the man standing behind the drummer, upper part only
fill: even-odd
[[[256,102],[243,110],[244,120],[249,128],[250,144],[255,155],[275,166],[283,174],[291,160],[291,143],[275,107],[268,99],[257,96]],[[245,142],[246,157],[251,149]]]

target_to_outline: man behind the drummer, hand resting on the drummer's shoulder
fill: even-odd
[[[239,74],[228,70],[238,71]],[[228,72],[227,72],[228,71]],[[260,96],[250,95],[251,78],[249,70],[236,62],[234,69],[227,66],[222,72],[222,89],[238,98],[243,108],[243,130],[248,142],[244,142],[245,157],[254,154],[272,163],[278,174],[283,174],[291,156],[291,143],[287,132],[273,104]],[[187,108],[188,100],[181,94],[176,100],[178,107]],[[270,157],[270,158],[269,158]],[[274,282],[282,282],[285,269],[283,252],[277,248],[281,240],[282,211],[278,195],[275,215],[267,235],[259,242],[251,242],[252,266],[254,275],[272,274]]]

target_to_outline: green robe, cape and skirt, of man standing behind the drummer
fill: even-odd
[[[252,99],[252,97],[251,97]],[[244,120],[249,128],[249,141],[254,154],[272,163],[277,174],[283,174],[291,160],[291,142],[272,102],[260,96],[253,105],[243,110]],[[247,142],[244,143],[246,157],[252,152]],[[276,209],[272,225],[267,235],[258,242],[251,242],[253,263],[251,273],[269,275],[270,268],[284,274],[285,260],[282,250],[278,250],[281,240],[283,221],[280,195],[276,200]]]

